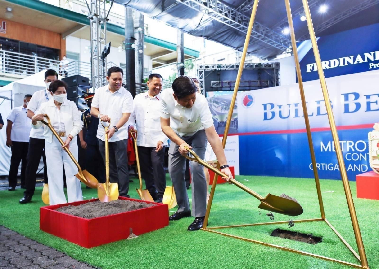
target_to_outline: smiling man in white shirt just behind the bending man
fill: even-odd
[[[161,203],[166,189],[166,173],[164,171],[164,147],[168,138],[163,134],[160,125],[160,92],[163,78],[159,74],[151,74],[147,81],[149,90],[139,93],[133,100],[133,112],[129,118],[129,131],[134,129],[136,121],[137,148],[141,160],[141,175],[151,197]]]

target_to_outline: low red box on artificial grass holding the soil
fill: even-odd
[[[118,199],[148,204],[153,203],[126,197],[119,197]],[[141,235],[158,230],[169,224],[168,205],[158,203],[153,203],[156,204],[154,207],[141,208],[93,219],[80,218],[55,210],[67,205],[81,205],[98,200],[90,199],[41,207],[39,229],[79,246],[91,248],[128,238],[129,228],[132,228],[135,235]]]

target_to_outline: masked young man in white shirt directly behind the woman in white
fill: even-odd
[[[30,98],[27,106],[27,117],[32,118],[34,112],[37,111],[42,104],[49,100],[52,100],[53,94],[49,91],[50,84],[58,79],[58,74],[55,70],[49,69],[45,72],[45,84],[46,89],[35,92]],[[45,156],[45,139],[43,135],[43,129],[31,129],[29,135],[29,148],[27,156],[27,165],[25,171],[25,187],[24,196],[20,199],[20,204],[26,204],[31,201],[36,188],[36,176],[39,166],[39,161],[44,161],[44,183],[48,183],[46,156]]]

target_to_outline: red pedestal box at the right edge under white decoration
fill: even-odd
[[[356,176],[357,197],[379,200],[379,174],[374,171]]]

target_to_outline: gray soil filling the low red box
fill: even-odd
[[[107,203],[96,201],[88,202],[81,205],[68,205],[66,207],[57,208],[56,211],[60,211],[69,215],[85,219],[93,219],[97,217],[108,216],[117,213],[154,206],[155,204],[147,204],[144,202],[136,202],[130,200],[115,200]]]

